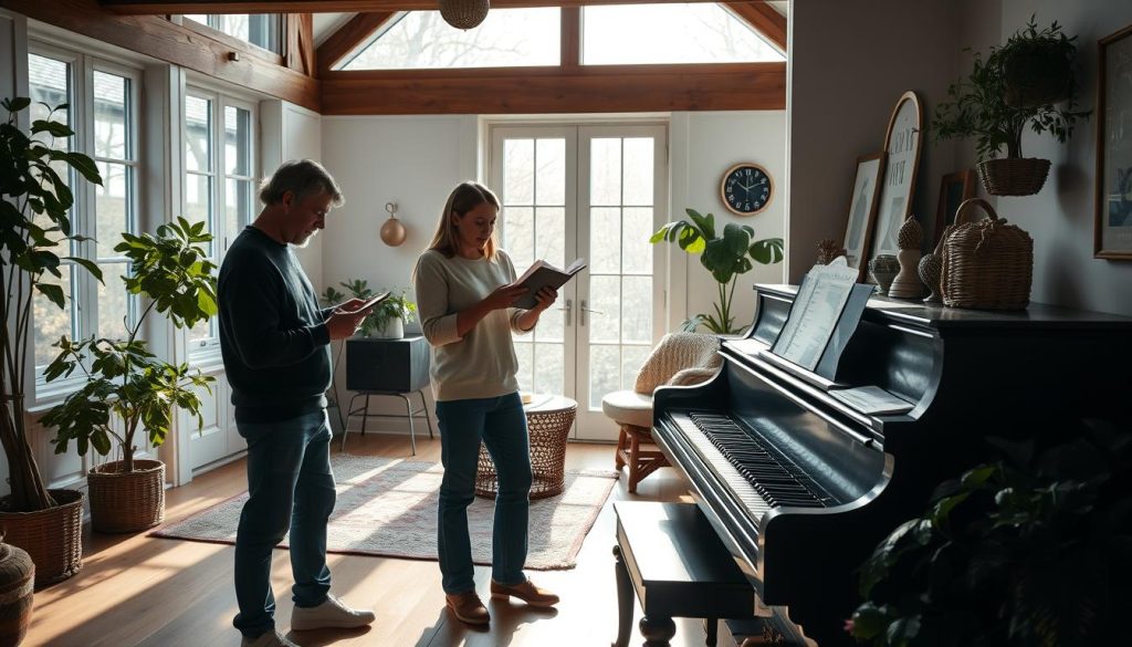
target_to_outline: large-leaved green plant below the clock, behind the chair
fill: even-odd
[[[713,279],[719,290],[719,300],[713,305],[715,313],[697,314],[684,322],[684,330],[693,332],[700,325],[715,334],[734,334],[743,332],[747,326],[736,326],[731,316],[731,301],[735,298],[735,283],[739,274],[749,272],[755,263],[771,265],[782,261],[783,244],[781,238],[764,238],[754,240],[755,230],[729,222],[723,227],[723,235],[715,236],[715,216],[701,215],[692,208],[685,210],[688,220],[669,222],[649,238],[649,242],[662,240],[676,242],[688,254],[698,254],[703,265]]]

